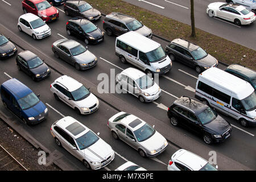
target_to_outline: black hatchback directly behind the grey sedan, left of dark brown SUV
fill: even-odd
[[[96,44],[104,40],[104,32],[89,20],[73,18],[66,25],[68,35],[75,35],[86,44]]]

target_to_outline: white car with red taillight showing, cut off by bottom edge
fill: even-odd
[[[168,171],[217,171],[207,160],[184,149],[176,151],[168,164]]]

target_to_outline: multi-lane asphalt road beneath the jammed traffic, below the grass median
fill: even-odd
[[[52,67],[57,71],[61,70],[65,74],[76,78],[85,85],[95,85],[91,90],[97,92],[96,86],[101,82],[101,80],[97,80],[100,73],[106,73],[110,76],[110,69],[114,69],[115,74],[117,74],[121,72],[122,69],[133,67],[130,64],[122,64],[119,62],[118,57],[114,55],[115,38],[105,36],[103,43],[88,46],[89,51],[98,57],[97,66],[87,71],[76,71],[74,67],[65,63],[63,60],[56,59],[51,51],[52,43],[61,39],[62,36],[77,40],[73,36],[68,36],[65,31],[65,23],[70,17],[65,16],[64,13],[60,11],[60,18],[55,22],[48,23],[49,27],[51,27],[52,35],[46,39],[35,41],[23,32],[19,32],[16,26],[18,17],[23,14],[21,0],[19,0],[19,3],[15,0],[8,0],[8,3],[10,3],[11,6],[0,1],[0,16],[2,17],[0,20],[0,32],[6,36],[10,36],[11,40],[19,44],[20,47],[30,49],[32,52],[42,57],[42,59],[46,60],[47,64],[52,65]],[[58,8],[63,10],[62,6]],[[102,17],[99,22],[96,22],[100,28],[102,28],[103,18],[104,17]],[[167,42],[164,42],[163,40],[156,38],[153,39],[162,44],[163,47],[167,44]],[[77,41],[84,44],[81,40]],[[22,51],[22,48],[18,47],[18,51]],[[232,137],[224,143],[207,146],[200,137],[197,137],[193,133],[182,128],[174,128],[170,125],[166,110],[164,109],[166,109],[167,106],[170,106],[172,102],[175,101],[176,97],[193,97],[195,95],[193,88],[195,88],[196,85],[197,74],[191,68],[185,67],[185,65],[175,62],[173,63],[174,68],[172,71],[164,77],[159,78],[159,86],[165,92],[163,92],[162,96],[154,103],[141,104],[137,98],[130,94],[101,94],[101,97],[105,101],[100,100],[99,110],[90,115],[77,115],[70,107],[64,105],[62,102],[57,102],[54,99],[49,90],[49,85],[60,76],[60,74],[54,71],[54,69],[51,69],[51,77],[40,82],[34,82],[30,77],[25,75],[25,73],[18,71],[14,57],[7,60],[1,60],[0,65],[0,84],[9,79],[7,75],[18,78],[34,90],[35,93],[40,94],[40,99],[44,103],[51,105],[65,116],[71,115],[78,121],[84,123],[84,125],[92,129],[95,133],[100,132],[100,137],[109,143],[113,147],[114,151],[122,156],[120,157],[115,155],[114,161],[107,166],[111,170],[114,170],[121,164],[125,163],[125,160],[131,160],[139,166],[149,170],[166,170],[166,165],[168,164],[168,160],[171,155],[179,149],[172,145],[171,142],[195,152],[207,160],[209,159],[209,151],[216,151],[217,164],[222,170],[256,169],[255,128],[241,128],[234,119],[223,116],[233,125]],[[225,67],[220,65],[219,68],[224,69]],[[111,105],[108,103],[110,102],[109,98],[113,98]],[[165,107],[160,108],[158,107],[159,104],[162,104],[162,106],[164,105]],[[137,115],[151,125],[155,125],[155,129],[164,134],[164,137],[170,140],[170,145],[167,150],[155,159],[143,159],[139,156],[137,151],[133,150],[133,148],[119,140],[114,140],[106,125],[108,119],[118,112],[112,105],[121,110],[122,108],[126,108],[127,112]],[[2,103],[0,104],[0,109],[11,116],[9,111],[7,112],[5,110]],[[78,168],[85,169],[85,167],[82,166],[82,163],[75,157],[62,148],[56,146],[49,130],[52,123],[57,119],[60,119],[61,115],[51,108],[49,108],[49,111],[50,113],[46,121],[39,125],[29,127],[31,135],[42,142],[44,146],[48,147],[51,151],[60,151]],[[19,123],[19,125],[23,124]]]

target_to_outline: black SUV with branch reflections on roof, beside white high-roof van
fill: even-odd
[[[230,123],[203,102],[191,97],[180,97],[168,108],[168,118],[173,126],[182,125],[202,135],[204,142],[223,142],[230,137]]]

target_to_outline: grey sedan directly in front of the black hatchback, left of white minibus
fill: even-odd
[[[60,39],[52,44],[55,57],[75,66],[77,70],[94,67],[97,57],[75,40]]]

